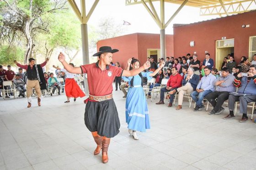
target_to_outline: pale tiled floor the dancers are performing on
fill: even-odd
[[[255,170],[256,124],[224,120],[204,110],[193,112],[187,99],[179,111],[148,99],[151,129],[128,134],[125,99],[114,91],[120,133],[109,147],[109,162],[93,155],[96,147],[84,124],[83,99],[65,95],[26,108],[25,98],[0,98],[0,170]],[[177,104],[177,103],[176,103]],[[193,106],[193,103],[192,103]],[[209,107],[211,110],[212,107]],[[251,108],[249,108],[250,110]]]

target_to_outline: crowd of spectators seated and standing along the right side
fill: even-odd
[[[234,57],[229,54],[224,57],[220,71],[214,67],[214,61],[209,53],[205,54],[203,62],[197,58],[197,54],[191,56],[189,53],[186,57],[166,57],[165,66],[155,76],[155,84],[149,86],[147,96],[151,97],[152,88],[161,86],[162,79],[167,78],[166,86],[160,89],[160,101],[156,104],[164,104],[165,98],[168,98],[168,107],[172,107],[176,95],[176,110],[180,110],[184,95],[189,95],[195,102],[195,112],[203,110],[205,101],[208,101],[213,106],[208,114],[218,115],[224,111],[222,105],[228,102],[229,115],[224,119],[229,119],[235,117],[234,106],[235,102],[239,101],[242,115],[240,122],[246,122],[247,105],[256,102],[256,54],[253,55],[251,62],[244,56],[240,62],[235,62]],[[164,58],[155,62],[154,58],[150,57],[148,61],[151,67],[146,71],[155,71]],[[123,98],[127,94],[126,87],[127,83],[120,86],[124,93]]]

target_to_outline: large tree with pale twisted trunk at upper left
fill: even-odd
[[[66,0],[1,0],[0,41],[2,44],[23,43],[24,63],[32,57],[35,37],[48,33],[50,15],[66,10]]]

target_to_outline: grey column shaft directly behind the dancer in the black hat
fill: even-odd
[[[82,34],[82,51],[83,51],[83,64],[89,64],[89,45],[88,45],[88,31],[87,24],[81,24],[81,34]],[[89,95],[88,81],[84,74],[84,89],[85,94]]]

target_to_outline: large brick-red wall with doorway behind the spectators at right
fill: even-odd
[[[242,25],[250,27],[242,28]],[[174,26],[173,31],[175,57],[197,52],[198,59],[203,62],[205,51],[208,51],[215,61],[215,41],[225,36],[226,39],[235,39],[234,55],[235,60],[239,61],[242,56],[248,57],[249,37],[256,36],[256,10],[185,26]],[[190,46],[190,41],[195,41],[194,47]]]

